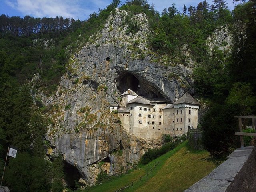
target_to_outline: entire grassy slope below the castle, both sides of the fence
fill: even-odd
[[[183,142],[148,165],[131,170],[127,174],[112,178],[110,181],[102,182],[102,184],[84,191],[114,192],[145,175],[154,163],[159,162],[151,174],[136,180],[132,187],[124,191],[182,192],[216,167],[213,162],[202,160],[207,157],[208,152],[191,150],[188,147],[188,142]]]

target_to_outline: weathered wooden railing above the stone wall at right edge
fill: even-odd
[[[240,136],[241,147],[242,147],[242,149],[244,149],[244,138],[243,138],[243,136],[254,136],[255,137],[256,133],[244,133],[243,132],[242,118],[251,118],[252,119],[252,128],[255,131],[256,116],[254,116],[254,115],[234,116],[234,118],[238,118],[239,131],[240,131],[240,132],[235,132],[235,135],[239,135]]]

